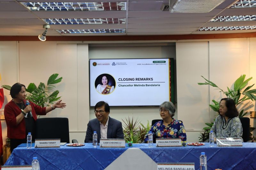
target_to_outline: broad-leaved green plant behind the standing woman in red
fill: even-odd
[[[54,84],[60,83],[62,80],[62,77],[57,78],[58,76],[59,74],[52,74],[47,81],[47,85],[40,82],[36,87],[35,83],[30,83],[26,88],[26,99],[41,107],[49,106],[53,101],[59,100],[59,90],[53,91],[55,88]],[[9,85],[2,85],[2,87],[11,90]]]

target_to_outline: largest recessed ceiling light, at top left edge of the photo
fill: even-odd
[[[30,11],[126,11],[126,2],[20,2]]]

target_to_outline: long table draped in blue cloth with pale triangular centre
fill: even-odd
[[[7,165],[31,165],[32,158],[37,157],[40,169],[122,169],[156,170],[157,163],[194,162],[199,169],[199,156],[205,152],[208,170],[256,169],[256,143],[243,143],[243,147],[154,147],[148,144],[126,145],[125,148],[93,148],[91,144],[81,147],[61,146],[60,148],[18,147],[13,150]]]

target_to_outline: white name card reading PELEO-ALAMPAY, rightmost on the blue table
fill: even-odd
[[[216,138],[217,147],[243,146],[241,137],[221,137]]]

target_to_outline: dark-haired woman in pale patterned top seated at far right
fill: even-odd
[[[221,99],[219,116],[217,116],[211,128],[215,141],[216,137],[242,138],[243,128],[237,116],[238,112],[236,110],[235,101],[229,98]]]

